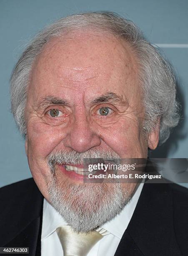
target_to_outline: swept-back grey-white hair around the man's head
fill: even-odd
[[[148,42],[135,24],[113,12],[88,12],[70,15],[45,28],[29,44],[13,69],[10,79],[11,109],[22,135],[27,134],[24,118],[30,74],[38,54],[53,37],[76,29],[92,28],[93,32],[111,33],[128,42],[140,64],[140,86],[145,108],[144,129],[150,133],[160,119],[160,143],[170,135],[179,121],[175,99],[176,82],[168,61]],[[136,95],[135,95],[136,96]]]

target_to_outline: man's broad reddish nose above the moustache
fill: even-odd
[[[64,146],[77,152],[85,152],[100,145],[100,136],[93,131],[86,116],[75,119],[64,140]]]

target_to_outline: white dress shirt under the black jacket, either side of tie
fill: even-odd
[[[101,228],[104,228],[110,234],[104,236],[89,251],[88,256],[114,256],[120,240],[125,232],[133,212],[137,205],[140,193],[143,188],[141,183],[135,191],[130,202],[125,205],[120,214],[106,222]],[[67,225],[62,216],[44,199],[43,203],[43,223],[41,234],[41,256],[63,256],[63,249],[56,233],[56,228]]]

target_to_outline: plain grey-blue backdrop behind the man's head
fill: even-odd
[[[188,157],[187,0],[0,0],[0,187],[31,177],[24,140],[15,127],[9,103],[9,77],[23,46],[43,26],[89,10],[115,11],[133,20],[152,43],[168,44],[162,50],[178,73],[182,117],[168,143],[151,156]]]

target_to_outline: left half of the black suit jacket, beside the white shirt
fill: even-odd
[[[35,182],[28,179],[4,187],[1,195],[7,207],[0,221],[0,246],[29,247],[29,255],[39,256],[43,196]]]

